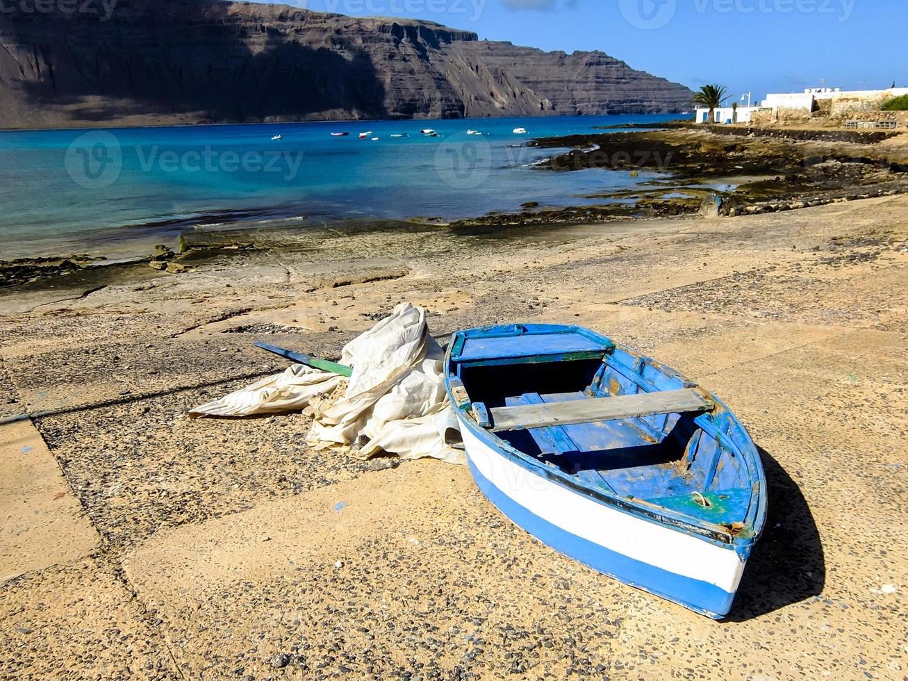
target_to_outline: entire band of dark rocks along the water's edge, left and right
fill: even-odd
[[[526,202],[519,212],[486,215],[444,223],[350,222],[341,232],[361,229],[449,231],[483,235],[507,228],[547,228],[590,222],[667,217],[721,217],[813,208],[829,203],[894,196],[908,192],[908,146],[898,133],[759,129],[716,126],[704,129],[673,122],[660,130],[589,133],[539,138],[528,145],[563,150],[538,163],[534,172],[571,173],[592,168],[640,176],[635,189],[587,196],[591,203],[546,206]],[[278,226],[277,231],[281,231]],[[288,225],[288,229],[292,229]],[[326,228],[328,229],[328,228]],[[187,232],[174,245],[161,244],[147,256],[107,262],[86,254],[0,261],[0,290],[40,285],[79,274],[148,261],[157,271],[182,273],[193,263],[267,248],[272,236],[261,230]],[[110,277],[111,274],[105,275]]]

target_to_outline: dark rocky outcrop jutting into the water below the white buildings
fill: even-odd
[[[538,163],[541,171],[607,169],[654,173],[634,190],[603,192],[595,206],[538,208],[455,223],[517,226],[607,222],[700,214],[779,212],[908,192],[908,153],[883,143],[899,133],[761,129],[666,123],[661,130],[628,123],[627,133],[591,133],[533,140],[541,149],[570,148]],[[639,128],[640,130],[637,130]],[[734,140],[729,140],[734,137]]]

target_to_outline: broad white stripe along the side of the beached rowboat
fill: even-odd
[[[467,454],[495,487],[530,513],[600,547],[734,594],[745,561],[731,548],[610,508],[509,460],[461,420]]]

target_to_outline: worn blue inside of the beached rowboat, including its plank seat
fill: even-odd
[[[521,328],[467,337],[451,355],[480,427],[582,487],[740,529],[753,446],[721,403],[592,332]]]

